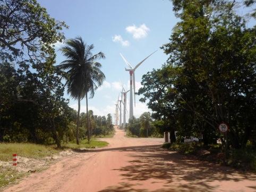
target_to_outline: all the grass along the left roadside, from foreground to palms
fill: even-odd
[[[26,171],[18,171],[16,169],[19,168],[19,157],[44,161],[44,158],[58,155],[60,152],[67,149],[95,149],[107,145],[108,143],[105,141],[92,140],[90,143],[88,143],[86,139],[81,140],[79,145],[77,145],[75,141],[63,143],[63,147],[61,149],[57,149],[55,145],[39,145],[33,143],[0,143],[0,189],[1,187],[11,184],[15,182],[16,179],[28,174]],[[12,154],[14,153],[18,154],[18,167],[13,167],[11,165]]]

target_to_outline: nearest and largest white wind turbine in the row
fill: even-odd
[[[157,51],[157,50],[156,50]],[[156,52],[155,51],[155,52]],[[152,54],[154,54],[153,52]],[[120,53],[121,57],[124,59],[124,62],[130,67],[125,68],[125,71],[129,71],[130,73],[130,118],[133,116],[133,97],[132,97],[132,85],[133,85],[133,91],[134,91],[134,107],[135,106],[135,70],[138,68],[147,58],[149,58],[152,54],[150,54],[148,57],[144,58],[140,63],[138,63],[134,68],[131,66],[129,62],[124,58],[124,56]]]

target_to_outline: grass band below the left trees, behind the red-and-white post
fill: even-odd
[[[53,146],[32,143],[0,143],[1,161],[12,161],[12,154],[14,153],[25,158],[39,159],[57,154],[58,152],[60,150],[56,150]]]

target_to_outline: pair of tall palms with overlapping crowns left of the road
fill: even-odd
[[[78,118],[76,122],[76,144],[79,144],[79,118],[80,101],[86,97],[88,142],[90,142],[90,126],[88,114],[88,93],[93,98],[95,90],[103,84],[105,75],[101,72],[101,64],[98,59],[104,59],[105,55],[99,52],[92,55],[93,45],[87,45],[81,37],[69,39],[60,50],[67,60],[64,60],[57,67],[65,71],[67,93],[75,100],[78,100]]]

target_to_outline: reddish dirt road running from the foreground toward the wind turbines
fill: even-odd
[[[256,191],[255,174],[192,161],[160,148],[163,139],[126,138],[78,153],[5,191]]]

